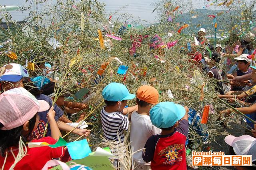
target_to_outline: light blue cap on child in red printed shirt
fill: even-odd
[[[152,124],[158,128],[172,127],[185,113],[183,106],[170,101],[158,103],[149,111]]]

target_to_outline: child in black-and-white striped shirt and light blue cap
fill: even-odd
[[[124,130],[128,130],[128,117],[124,116],[123,109],[127,100],[134,99],[125,85],[110,83],[102,91],[105,107],[100,112],[103,136],[107,140],[124,142]],[[133,112],[136,107],[126,108],[127,112]],[[131,111],[130,111],[131,110]]]

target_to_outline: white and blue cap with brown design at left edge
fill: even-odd
[[[0,68],[0,81],[17,82],[29,77],[28,71],[20,64],[10,63]]]

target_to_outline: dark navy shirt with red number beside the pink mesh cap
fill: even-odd
[[[36,96],[36,99],[38,100],[44,100],[46,101],[47,103],[49,103],[50,105],[50,108],[52,107],[52,99],[50,99],[50,97],[46,96],[46,95],[38,95]],[[46,116],[47,116],[47,113],[50,109],[48,109],[47,111],[44,111],[44,112],[38,112],[38,115],[39,115],[39,123],[36,127],[36,130],[34,130],[32,132],[32,135],[33,135],[33,139],[39,139],[39,138],[42,138],[44,136],[44,128],[46,126],[46,123],[47,123],[47,119],[46,119]],[[64,114],[64,112],[56,105],[54,104],[54,111],[55,111],[55,121],[58,121],[58,119],[60,117],[62,117],[62,115]],[[51,129],[50,129],[50,125],[48,125],[47,127],[47,130],[46,130],[46,136],[51,136]]]

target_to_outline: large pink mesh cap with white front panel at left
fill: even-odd
[[[0,95],[1,130],[10,130],[24,125],[37,112],[47,111],[50,106],[44,100],[37,100],[26,89],[20,87],[8,90]]]

